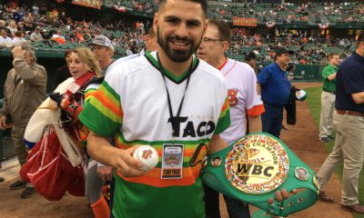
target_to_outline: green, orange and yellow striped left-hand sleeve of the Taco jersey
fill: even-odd
[[[94,93],[92,97],[90,97],[91,93],[86,94],[84,109],[78,116],[88,129],[102,136],[115,135],[123,121],[120,94],[110,85],[112,80],[116,81],[112,76],[106,77],[96,91],[89,90]]]

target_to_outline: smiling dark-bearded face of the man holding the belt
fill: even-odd
[[[206,28],[201,5],[167,0],[154,19],[161,50],[173,62],[185,62],[197,51]]]

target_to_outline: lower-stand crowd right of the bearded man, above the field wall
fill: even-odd
[[[244,35],[239,29],[234,29],[232,46],[229,56],[241,59],[241,56],[248,52],[257,54],[258,63],[267,65],[274,61],[277,47],[287,47],[293,51],[291,55],[294,64],[326,64],[330,53],[340,54],[345,59],[354,49],[355,42],[351,38],[315,38],[307,37],[304,33],[295,35],[282,33],[269,38],[262,35]]]

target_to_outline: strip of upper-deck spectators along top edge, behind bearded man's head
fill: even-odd
[[[257,18],[259,22],[275,23],[339,23],[364,22],[364,3],[361,1],[347,3],[306,2],[296,5],[286,1],[285,4],[258,4],[227,1],[209,1],[208,16],[214,19],[232,20],[233,16]],[[157,11],[157,0],[106,0],[107,6],[125,6],[132,11],[153,15]]]

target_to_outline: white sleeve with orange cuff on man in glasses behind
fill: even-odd
[[[264,105],[260,95],[257,92],[257,76],[254,74],[253,68],[249,67],[246,72],[247,76],[247,114],[248,116],[258,116],[265,112]]]

